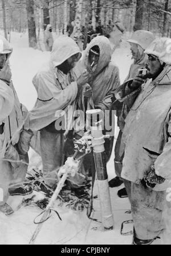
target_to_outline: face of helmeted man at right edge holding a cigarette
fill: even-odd
[[[148,54],[146,69],[148,70],[146,73],[146,76],[148,78],[156,78],[160,74],[162,70],[162,65],[160,63],[160,60],[157,58],[157,56]]]

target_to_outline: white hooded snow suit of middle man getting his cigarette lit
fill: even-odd
[[[112,49],[109,39],[105,36],[96,36],[93,38],[84,51],[82,61],[77,64],[75,70],[80,74],[87,68],[89,51],[93,46],[99,46],[100,56],[95,70],[91,72],[92,76],[89,85],[92,88],[92,96],[88,99],[87,109],[100,108],[105,112],[111,110],[112,96],[116,88],[120,86],[119,69],[111,63]],[[79,108],[85,112],[84,100],[84,95],[80,96],[78,99],[78,105]],[[107,115],[107,112],[105,112],[105,115]],[[109,116],[106,116],[106,118],[107,117]],[[115,117],[113,116],[113,118]],[[107,160],[110,157],[112,143],[113,137],[109,140],[105,140],[105,153]],[[85,160],[85,166],[87,165],[87,162],[88,161]]]

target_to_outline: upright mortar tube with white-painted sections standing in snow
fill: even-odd
[[[108,136],[104,136],[102,133],[101,120],[103,118],[103,112],[101,109],[91,109],[86,111],[86,115],[87,123],[89,124],[92,135],[93,156],[95,160],[97,187],[100,198],[101,220],[104,230],[112,230],[113,214],[104,149],[104,138]],[[99,116],[98,119],[97,116]]]

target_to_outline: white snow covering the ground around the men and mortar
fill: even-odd
[[[14,86],[19,100],[30,110],[36,100],[36,91],[31,82],[32,77],[36,74],[39,67],[42,66],[42,63],[48,60],[50,53],[29,48],[26,34],[13,32],[11,34],[11,44],[14,48],[10,59]],[[127,76],[129,66],[132,62],[129,53],[129,45],[123,42],[121,47],[117,48],[112,56],[112,62],[119,67],[121,82],[123,82]],[[118,129],[116,128],[115,138],[117,137],[117,133]],[[115,177],[113,159],[114,151],[107,164],[109,180]],[[30,151],[30,168],[40,164],[40,157]],[[131,244],[132,235],[120,234],[121,223],[126,220],[131,220],[131,214],[129,212],[127,213],[127,211],[130,210],[128,198],[119,198],[117,196],[117,190],[121,188],[123,188],[123,185],[119,188],[110,189],[114,218],[113,230],[104,231],[100,222],[95,222],[87,218],[86,211],[76,212],[71,209],[59,207],[56,204],[55,209],[58,210],[62,221],[56,217],[56,214],[52,214],[52,217],[43,224],[42,230],[35,243],[57,245]],[[95,190],[97,190],[96,185]],[[34,193],[35,200],[43,196],[41,193]],[[36,225],[33,223],[34,218],[41,213],[42,210],[31,205],[22,206],[18,209],[21,200],[21,197],[15,197],[15,200],[14,197],[10,197],[9,203],[14,210],[16,210],[15,213],[9,217],[0,213],[0,244],[28,244],[34,233],[36,228]],[[94,208],[95,212],[93,213],[93,218],[100,220],[100,202],[98,198],[94,200]],[[132,224],[126,225],[124,229],[124,231],[132,230]]]

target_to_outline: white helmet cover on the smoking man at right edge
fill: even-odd
[[[144,51],[145,54],[153,54],[159,60],[171,65],[171,39],[162,37],[155,39]]]

